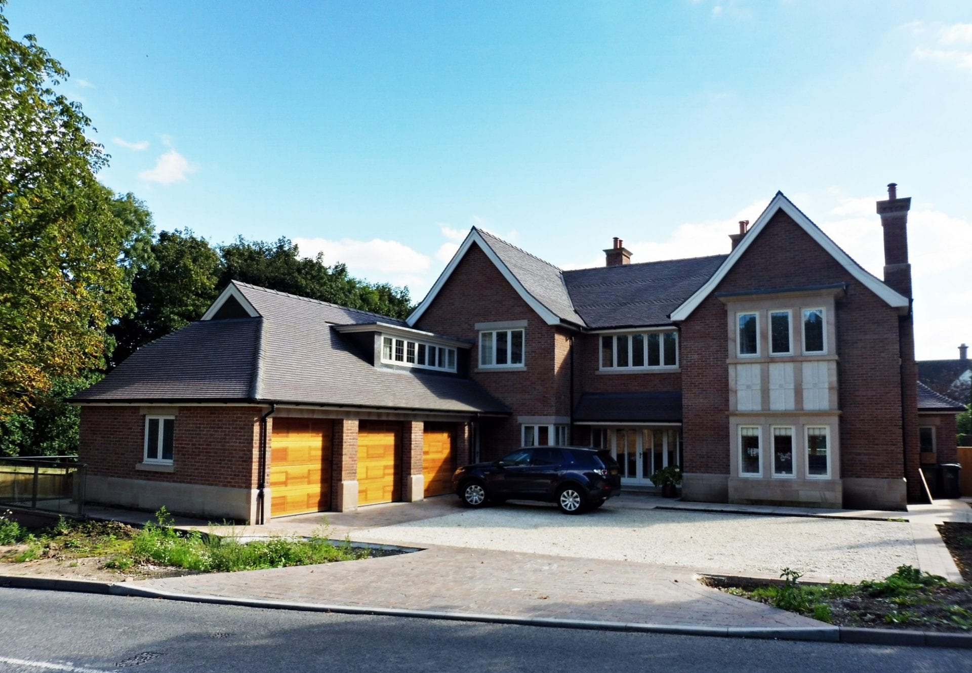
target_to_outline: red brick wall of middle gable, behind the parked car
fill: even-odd
[[[416,323],[418,329],[466,339],[478,339],[476,322],[527,320],[524,345],[525,371],[474,371],[471,377],[509,406],[510,419],[481,424],[480,457],[491,460],[520,445],[518,416],[570,414],[570,358],[566,330],[546,324],[520,298],[499,269],[478,246],[469,252],[439,290],[435,301]]]

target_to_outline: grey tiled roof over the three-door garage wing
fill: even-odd
[[[232,295],[238,301],[237,293],[258,317],[193,322],[143,346],[72,400],[259,401],[509,413],[469,379],[374,367],[334,328],[335,322],[401,320],[240,283],[227,287],[221,299]]]

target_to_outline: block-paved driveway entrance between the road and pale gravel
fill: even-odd
[[[683,568],[455,547],[133,584],[229,598],[599,622],[821,625],[703,587]]]

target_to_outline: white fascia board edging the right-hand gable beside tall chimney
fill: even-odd
[[[763,211],[763,214],[759,216],[756,223],[753,224],[752,229],[743,238],[736,250],[731,252],[726,260],[722,262],[722,265],[718,270],[712,275],[705,285],[699,287],[696,292],[686,299],[681,306],[679,306],[675,311],[672,312],[672,320],[685,320],[692,312],[698,308],[699,304],[708,297],[712,291],[722,282],[722,279],[726,277],[729,271],[735,266],[739,258],[742,257],[752,242],[756,240],[756,237],[762,232],[766,227],[766,224],[773,219],[773,216],[777,214],[777,211],[782,210],[786,215],[788,215],[793,221],[795,221],[800,227],[806,231],[811,238],[813,238],[817,244],[824,251],[828,252],[830,256],[837,260],[848,273],[854,277],[861,285],[867,287],[872,292],[881,297],[888,306],[893,308],[902,309],[907,308],[909,305],[908,297],[894,291],[890,287],[886,286],[879,279],[875,278],[867,271],[865,271],[857,262],[851,259],[851,256],[841,250],[841,248],[834,243],[823,231],[816,226],[810,219],[807,218],[800,209],[793,205],[793,203],[786,198],[782,192],[777,192],[777,195],[773,197],[770,204]]]

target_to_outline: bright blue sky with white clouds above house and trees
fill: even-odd
[[[781,189],[881,275],[913,196],[918,354],[972,343],[972,5],[12,0],[156,227],[434,283],[478,224],[563,267],[728,250]]]

